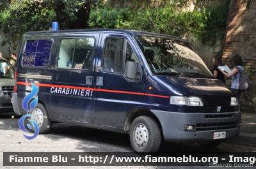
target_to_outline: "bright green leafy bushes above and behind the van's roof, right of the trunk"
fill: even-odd
[[[181,11],[177,8],[177,2],[173,1],[158,8],[147,6],[132,11],[98,8],[90,14],[89,26],[134,29],[173,36],[182,36],[191,31],[195,39],[213,46],[217,40],[223,39],[227,17],[228,6],[225,4],[215,5],[211,9]]]

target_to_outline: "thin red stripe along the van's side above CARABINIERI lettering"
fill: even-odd
[[[19,85],[31,85],[31,83],[28,82],[17,82]],[[145,96],[153,96],[153,97],[159,97],[159,98],[170,98],[170,96],[161,96],[157,94],[147,94],[143,92],[127,92],[127,91],[113,91],[113,90],[107,90],[107,89],[95,89],[95,88],[88,88],[88,87],[75,87],[72,85],[52,85],[52,84],[36,84],[37,86],[43,86],[43,87],[61,87],[61,88],[70,88],[70,89],[85,89],[90,91],[100,91],[100,92],[115,92],[115,93],[123,93],[123,94],[138,94],[138,95],[145,95]]]

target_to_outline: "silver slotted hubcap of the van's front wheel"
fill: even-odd
[[[144,124],[137,124],[133,132],[134,143],[139,149],[143,149],[148,143],[148,129]]]

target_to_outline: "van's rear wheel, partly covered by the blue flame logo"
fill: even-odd
[[[44,105],[37,103],[34,110],[31,112],[32,117],[29,118],[36,122],[39,128],[39,134],[48,133],[52,129],[52,122],[50,121],[47,110]],[[31,122],[29,122],[31,124]],[[32,126],[32,125],[31,125]],[[32,127],[35,131],[35,128]]]

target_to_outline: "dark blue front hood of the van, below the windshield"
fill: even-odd
[[[231,97],[236,96],[223,82],[207,78],[164,77],[186,96],[202,98],[205,106],[230,106]]]

